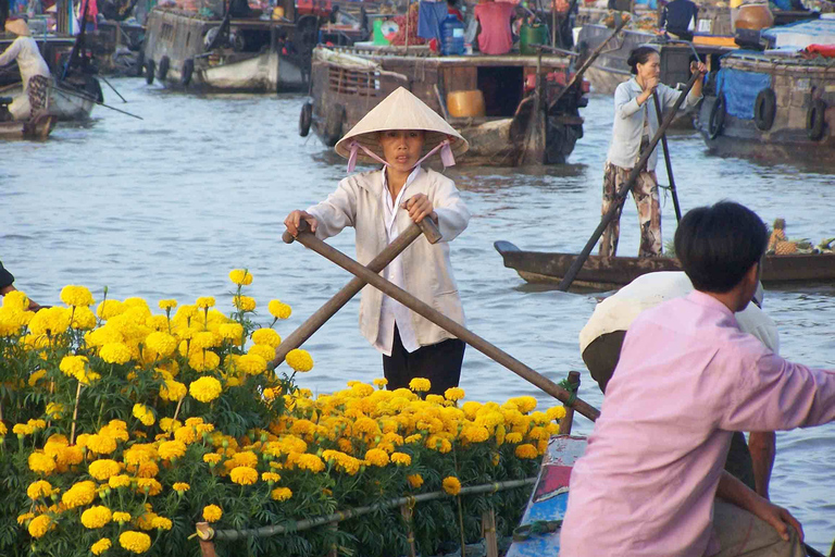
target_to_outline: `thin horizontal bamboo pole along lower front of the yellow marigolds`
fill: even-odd
[[[486,483],[483,485],[474,485],[472,487],[462,487],[461,491],[459,492],[459,495],[477,495],[482,493],[496,493],[504,490],[514,490],[518,487],[525,487],[526,485],[532,485],[536,483],[536,480],[537,480],[536,478],[526,478],[524,480],[509,480],[506,482]],[[401,505],[418,504],[418,503],[423,503],[427,500],[440,499],[449,496],[450,495],[444,491],[422,493],[413,497],[398,497],[396,499],[389,499],[386,502],[376,503],[367,507],[357,507],[353,509],[346,509],[346,510],[334,512],[326,516],[299,520],[298,522],[292,522],[287,525],[277,524],[273,527],[262,527],[262,528],[253,528],[253,529],[246,529],[246,530],[214,531],[211,528],[209,528],[207,522],[198,522],[197,531],[199,533],[198,535],[201,542],[211,541],[211,540],[222,540],[226,542],[234,542],[242,537],[270,537],[273,535],[285,534],[288,532],[301,532],[303,530],[310,530],[311,528],[321,527],[324,524],[328,524],[331,522],[341,522],[342,520],[361,517],[363,515],[369,515],[371,512],[391,509],[395,507],[399,507]]]

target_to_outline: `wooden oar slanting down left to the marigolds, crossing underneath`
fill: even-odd
[[[307,223],[304,223],[304,225],[307,225]],[[440,240],[440,232],[438,232],[438,227],[432,219],[423,219],[419,224],[410,224],[402,234],[397,236],[391,244],[386,246],[386,249],[371,260],[367,269],[374,273],[379,273],[421,234],[426,236],[429,244],[437,244]],[[285,244],[292,244],[296,240],[289,232],[285,232],[282,239]],[[313,336],[313,333],[319,331],[328,319],[334,317],[334,314],[339,311],[342,306],[348,304],[348,300],[353,298],[366,284],[367,283],[360,277],[354,277],[351,282],[346,284],[341,290],[336,293],[333,298],[327,300],[324,306],[308,318],[301,326],[290,333],[290,335],[278,345],[278,348],[275,349],[275,358],[270,362],[270,368],[274,369],[281,366],[287,357],[287,352],[304,344],[308,338]]]

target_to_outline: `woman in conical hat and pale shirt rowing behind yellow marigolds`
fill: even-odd
[[[292,211],[284,223],[295,236],[303,221],[322,239],[353,226],[357,259],[366,265],[411,222],[432,219],[441,240],[433,245],[419,237],[383,276],[463,324],[449,242],[466,228],[470,211],[450,178],[421,163],[439,152],[450,166],[468,148],[452,126],[400,87],[336,144],[336,152],[348,159],[348,172],[357,161],[377,162],[382,169],[348,176],[325,201]],[[408,387],[414,377],[428,379],[435,394],[458,386],[464,343],[376,288],[362,290],[360,330],[383,354],[389,389]]]

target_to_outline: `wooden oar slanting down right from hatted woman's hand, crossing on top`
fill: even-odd
[[[419,315],[424,317],[439,327],[452,333],[458,338],[465,342],[479,352],[504,366],[516,375],[536,385],[566,406],[573,407],[574,410],[582,413],[589,420],[597,420],[598,416],[600,416],[600,411],[590,406],[588,403],[579,398],[575,398],[574,394],[569,393],[553,381],[528,368],[518,359],[510,356],[508,352],[497,348],[481,336],[440,313],[432,306],[419,300],[404,289],[391,284],[389,281],[386,281],[374,271],[361,265],[341,251],[328,246],[321,239],[316,238],[313,234],[309,232],[300,232],[296,237],[296,240],[304,247],[312,249],[316,253],[325,257],[326,259],[329,259],[346,271],[349,271],[356,276],[362,278],[367,284],[371,284],[378,290],[383,292],[383,294],[386,296],[389,296],[390,298],[399,301]]]

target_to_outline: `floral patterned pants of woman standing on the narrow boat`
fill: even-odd
[[[603,206],[601,214],[609,212],[615,202],[618,190],[628,180],[632,169],[622,169],[607,162],[603,171]],[[658,200],[658,180],[655,171],[644,170],[635,181],[632,197],[638,207],[638,223],[640,224],[640,248],[638,257],[656,257],[661,255],[661,206]],[[621,211],[603,231],[600,239],[599,255],[614,257],[618,251],[618,237],[621,234]]]

